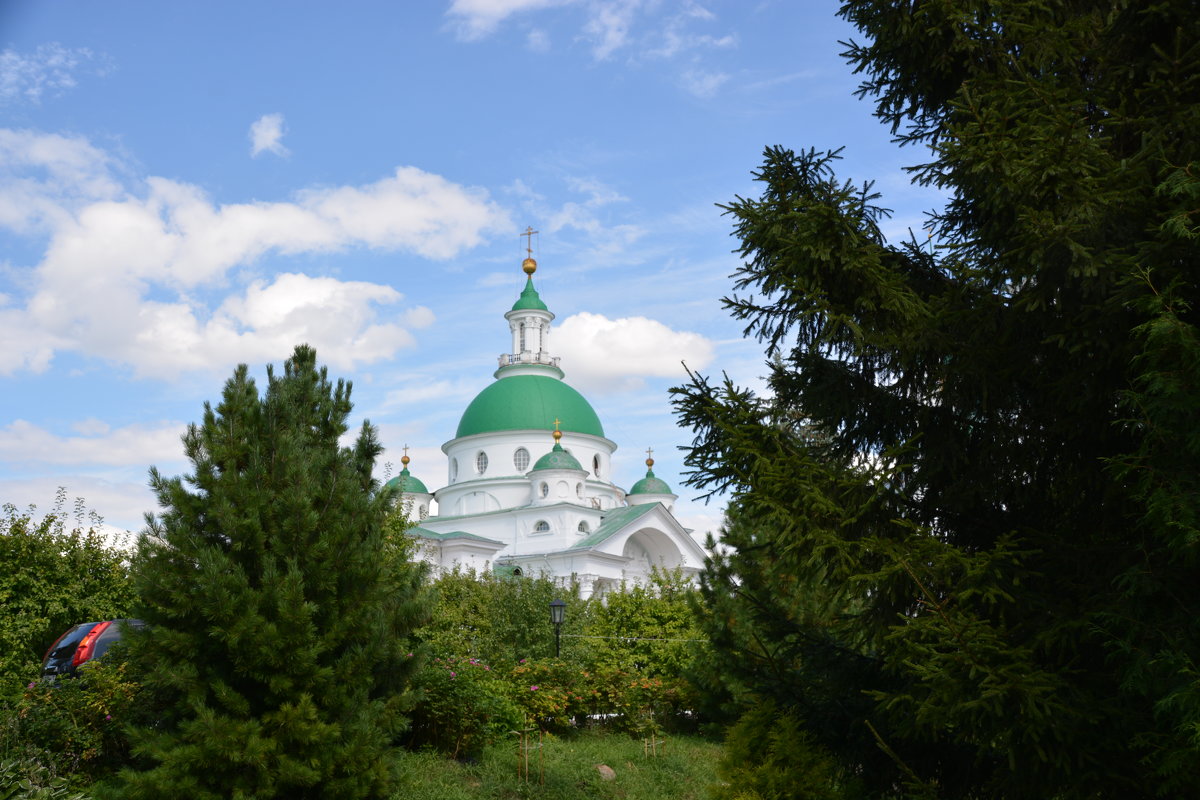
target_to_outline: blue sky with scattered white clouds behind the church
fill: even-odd
[[[680,361],[754,384],[716,207],[766,145],[845,145],[919,229],[934,197],[853,97],[828,0],[0,5],[0,501],[138,529],[146,470],[239,362],[354,381],[380,474],[440,445],[509,349],[527,225],[552,350],[619,450],[692,503]],[[550,443],[547,443],[548,447]]]

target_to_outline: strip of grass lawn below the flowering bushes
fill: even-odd
[[[517,778],[516,742],[487,748],[479,764],[460,764],[436,753],[404,753],[398,762],[396,800],[538,798],[540,800],[703,800],[716,781],[721,745],[695,736],[671,736],[655,757],[623,734],[586,732],[547,738],[545,783],[539,783],[536,752],[529,757],[529,782]],[[606,781],[596,764],[617,774]]]

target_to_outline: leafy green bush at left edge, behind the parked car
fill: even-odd
[[[82,500],[67,530],[65,505],[59,489],[40,521],[11,504],[0,513],[0,698],[37,678],[46,649],[68,627],[127,616],[132,606],[127,554],[96,533],[98,517],[84,527]]]

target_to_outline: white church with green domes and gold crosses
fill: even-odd
[[[421,557],[436,570],[496,570],[577,581],[584,597],[642,583],[652,567],[695,576],[704,551],[674,518],[677,495],[654,476],[612,482],[617,444],[551,355],[554,314],[533,285],[504,314],[511,345],[494,380],[442,445],[446,485],[430,492],[403,470],[388,482],[406,505]],[[436,504],[436,505],[434,505]]]

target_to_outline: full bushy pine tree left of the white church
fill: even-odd
[[[384,796],[425,612],[374,429],[340,444],[350,408],[298,347],[262,396],[241,366],[205,404],[190,475],[151,469],[131,657],[161,718],[134,730],[118,796]]]

